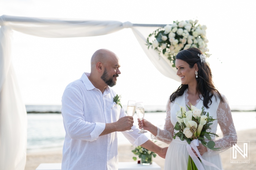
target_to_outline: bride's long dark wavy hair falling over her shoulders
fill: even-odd
[[[198,78],[196,78],[197,86],[196,90],[198,94],[202,94],[204,97],[204,107],[209,108],[209,105],[212,104],[212,96],[215,98],[218,96],[223,102],[223,97],[220,92],[214,87],[212,82],[212,71],[206,63],[202,63],[198,54],[203,54],[197,48],[188,48],[180,51],[176,55],[176,59],[183,60],[189,64],[190,68],[193,68],[195,64],[198,66]],[[196,77],[196,76],[195,76]],[[188,88],[188,85],[180,85],[176,91],[174,91],[170,97],[171,102],[173,102],[177,97],[181,96],[185,90]],[[200,97],[200,96],[199,96]]]

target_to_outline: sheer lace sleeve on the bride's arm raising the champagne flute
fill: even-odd
[[[157,127],[157,135],[156,137],[151,134],[152,139],[160,140],[166,144],[170,144],[172,142],[174,127],[171,122],[171,101],[170,98],[166,104],[166,118],[164,123],[164,129],[160,129]]]

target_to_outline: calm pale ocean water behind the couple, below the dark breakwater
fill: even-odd
[[[145,113],[144,118],[163,129],[165,116],[165,112],[148,112]],[[256,128],[255,111],[232,112],[232,117],[237,131]],[[136,120],[137,115],[135,114],[133,118]],[[137,124],[135,121],[134,126]],[[217,133],[221,135],[220,128],[218,129]],[[150,133],[146,135],[149,137]],[[60,113],[28,114],[27,152],[62,148],[64,137],[65,130]],[[118,132],[118,144],[130,144],[121,132]]]

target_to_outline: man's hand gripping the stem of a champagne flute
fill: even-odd
[[[133,117],[132,116],[124,116],[121,117],[116,124],[116,131],[121,132],[125,130],[132,129],[133,126]]]

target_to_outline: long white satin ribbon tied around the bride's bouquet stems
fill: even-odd
[[[194,139],[191,141],[190,144],[187,144],[187,150],[188,150],[188,154],[190,155],[190,157],[193,159],[196,167],[198,170],[204,170],[204,166],[202,165],[202,163],[200,162],[200,160],[197,158],[196,154],[198,155],[198,157],[201,159],[201,161],[204,163],[204,165],[207,165],[207,166],[213,166],[217,169],[219,169],[216,165],[214,165],[213,163],[211,162],[208,162],[206,160],[204,160],[202,158],[202,156],[200,155],[198,149],[196,146],[199,146],[199,140],[198,139]],[[196,154],[192,151],[193,148],[195,151],[196,151]],[[220,170],[220,169],[219,169]]]

